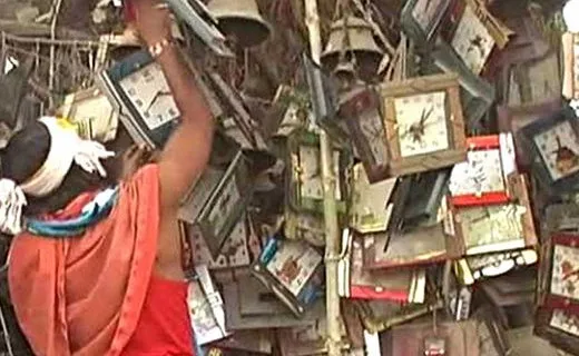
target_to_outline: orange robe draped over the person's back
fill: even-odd
[[[92,197],[78,197],[55,218],[78,215]],[[14,238],[10,295],[36,355],[119,355],[139,319],[158,228],[158,167],[148,165],[120,186],[109,217],[82,236]]]

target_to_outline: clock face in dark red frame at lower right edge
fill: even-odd
[[[579,248],[555,245],[551,294],[579,300]]]

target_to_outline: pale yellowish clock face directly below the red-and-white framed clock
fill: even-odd
[[[461,209],[467,248],[520,241],[523,236],[521,216],[526,212],[526,207],[516,204]]]

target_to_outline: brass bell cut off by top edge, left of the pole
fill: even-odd
[[[241,48],[257,46],[272,33],[256,0],[212,0],[207,8],[219,22],[219,29],[235,38]]]

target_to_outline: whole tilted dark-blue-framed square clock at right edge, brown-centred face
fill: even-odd
[[[532,171],[548,189],[565,192],[579,182],[579,122],[571,108],[521,129]]]

